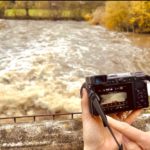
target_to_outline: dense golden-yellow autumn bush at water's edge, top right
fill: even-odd
[[[149,1],[107,2],[103,17],[109,29],[150,33]]]

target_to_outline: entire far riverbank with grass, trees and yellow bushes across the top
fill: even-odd
[[[0,18],[88,20],[110,30],[150,33],[147,1],[2,1]]]

